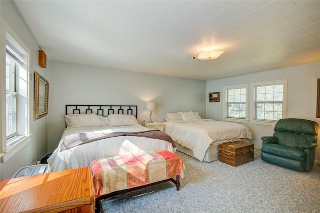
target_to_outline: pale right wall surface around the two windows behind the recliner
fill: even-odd
[[[206,93],[220,92],[220,100],[223,100],[224,86],[287,79],[287,118],[308,119],[320,125],[320,119],[315,117],[317,78],[320,78],[319,62],[207,81]],[[206,100],[206,116],[207,118],[222,120],[222,101],[208,103],[208,100]],[[251,143],[254,143],[254,146],[258,148],[261,148],[262,141],[260,138],[262,136],[273,134],[273,126],[251,124],[250,122],[241,124],[250,129],[252,132]],[[319,141],[320,135],[317,143],[320,147]],[[316,148],[316,161],[320,161],[319,147]]]

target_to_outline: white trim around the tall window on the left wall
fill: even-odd
[[[15,153],[17,153],[23,146],[30,142],[30,116],[28,108],[27,110],[27,134],[23,135],[22,138],[17,140],[17,142],[10,146],[6,146],[6,124],[5,124],[5,44],[6,44],[6,35],[10,35],[16,43],[26,52],[29,56],[27,58],[28,66],[26,68],[27,76],[29,76],[29,66],[30,66],[30,50],[22,42],[22,40],[17,36],[17,34],[11,29],[11,27],[5,22],[5,20],[0,16],[0,162],[3,163]],[[27,78],[28,79],[28,78]],[[27,87],[29,91],[29,80],[27,81]],[[28,92],[29,93],[29,92]],[[27,97],[28,105],[30,106],[29,94]]]

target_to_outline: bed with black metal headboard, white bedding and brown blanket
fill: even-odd
[[[172,139],[138,124],[137,106],[66,105],[66,128],[57,148],[47,159],[51,171],[88,167],[99,158],[168,150]]]

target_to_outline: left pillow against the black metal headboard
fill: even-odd
[[[102,116],[101,116],[102,117]],[[100,116],[96,114],[65,115],[66,127],[106,126]]]

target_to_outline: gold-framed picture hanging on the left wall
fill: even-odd
[[[48,114],[49,83],[34,72],[34,120]]]

